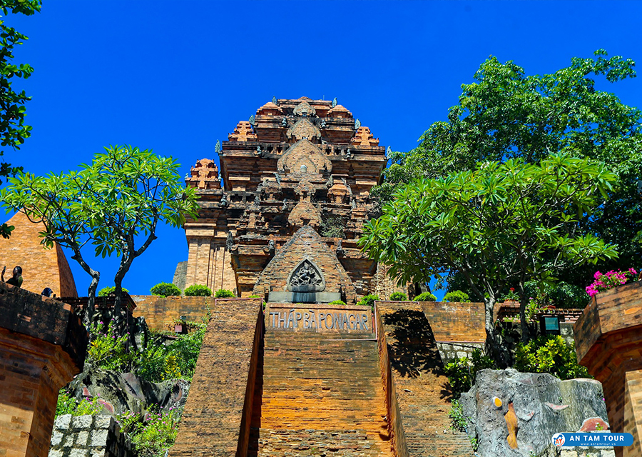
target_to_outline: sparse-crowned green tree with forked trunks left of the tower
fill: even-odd
[[[20,173],[0,193],[9,210],[23,211],[31,221],[42,222],[42,243],[71,248],[91,276],[85,322],[91,322],[100,273],[91,268],[83,247],[91,244],[95,255],[120,258],[114,277],[115,313],[121,316],[122,281],[133,260],[156,239],[159,222],[179,227],[184,214],[196,216],[194,190],[185,188],[178,164],[151,150],[132,146],[106,148],[91,164],[68,174],[34,176]]]

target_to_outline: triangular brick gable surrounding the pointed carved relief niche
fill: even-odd
[[[325,277],[325,292],[339,292],[343,289],[347,303],[356,300],[355,288],[341,265],[337,255],[330,251],[327,243],[311,226],[302,227],[280,248],[258,278],[255,293],[287,291],[287,276],[304,258],[320,268]]]

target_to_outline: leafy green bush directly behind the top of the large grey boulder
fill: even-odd
[[[539,336],[519,343],[513,368],[527,373],[551,373],[564,380],[591,378],[586,367],[577,363],[575,348],[559,335]]]

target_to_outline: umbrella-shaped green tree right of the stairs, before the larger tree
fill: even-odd
[[[399,189],[382,216],[365,224],[360,245],[390,265],[399,283],[462,273],[485,303],[486,333],[497,354],[492,312],[506,284],[519,286],[526,340],[526,281],[551,282],[565,266],[617,256],[614,246],[578,234],[579,221],[615,183],[603,164],[569,154],[539,165],[486,162]]]

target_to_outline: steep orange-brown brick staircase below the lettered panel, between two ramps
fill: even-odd
[[[364,338],[265,333],[249,456],[392,456],[377,341]]]

